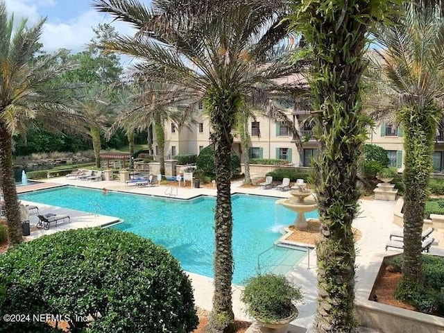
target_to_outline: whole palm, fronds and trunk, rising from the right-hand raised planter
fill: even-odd
[[[385,99],[404,129],[404,282],[422,272],[421,233],[438,123],[443,113],[444,19],[437,6],[407,6],[398,24],[375,33]],[[394,111],[394,112],[393,112]]]

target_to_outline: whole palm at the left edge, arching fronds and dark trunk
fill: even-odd
[[[58,65],[59,54],[35,58],[44,20],[14,25],[0,1],[0,183],[6,202],[10,244],[22,241],[19,205],[12,170],[12,136],[26,134],[35,123],[52,131],[80,130],[81,117],[60,101],[56,78],[72,65]]]

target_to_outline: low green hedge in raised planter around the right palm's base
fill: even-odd
[[[403,256],[388,260],[395,272],[402,271]],[[395,291],[395,298],[408,302],[418,311],[433,314],[438,311],[444,316],[444,257],[422,255],[422,281],[424,284],[400,282]]]

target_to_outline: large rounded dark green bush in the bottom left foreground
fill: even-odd
[[[185,333],[198,323],[191,283],[171,253],[109,228],[20,244],[0,256],[0,290],[1,315],[68,315],[76,332]],[[76,322],[74,315],[94,320]],[[44,331],[26,321],[3,322],[0,332]]]

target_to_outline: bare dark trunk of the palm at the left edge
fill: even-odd
[[[0,123],[0,183],[6,205],[8,238],[10,244],[19,244],[23,239],[19,203],[12,170],[12,139],[3,123]]]

